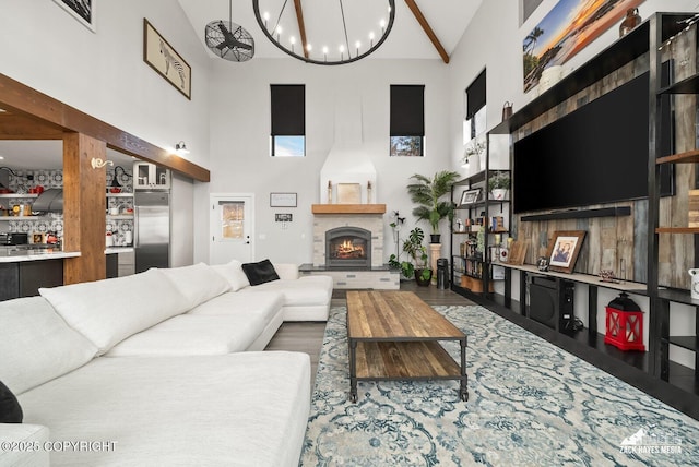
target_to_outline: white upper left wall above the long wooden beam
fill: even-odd
[[[209,166],[209,63],[179,3],[99,1],[96,34],[50,0],[0,0],[0,73]],[[192,68],[188,100],[143,61],[146,17]]]

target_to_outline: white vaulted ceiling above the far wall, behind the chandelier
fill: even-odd
[[[192,27],[199,35],[202,47],[204,45],[204,28],[206,24],[214,20],[228,20],[228,1],[227,0],[178,0],[182,10],[192,23]],[[347,14],[352,12],[351,7],[356,3],[386,0],[344,0],[344,9]],[[327,10],[319,8],[319,4],[328,2],[339,3],[340,0],[300,0],[303,9],[304,23],[309,36],[309,43],[320,43],[324,37],[330,35],[323,32],[324,27],[339,28],[342,27],[341,19],[328,17]],[[395,0],[395,22],[393,29],[387,41],[368,59],[440,59],[437,49],[425,34],[425,31],[415,19],[413,11],[408,8],[408,3],[414,3],[423,16],[434,31],[437,39],[443,46],[447,55],[457,47],[461,39],[466,25],[481,7],[482,0]],[[272,4],[281,4],[283,1],[259,0],[260,10],[264,11],[265,7]],[[294,10],[294,0],[288,0],[286,9]],[[387,1],[388,4],[388,1]],[[271,16],[275,13],[270,11]],[[246,28],[254,38],[254,57],[256,58],[283,58],[287,57],[277,49],[260,31],[258,22],[252,10],[252,0],[233,0],[233,22]],[[357,21],[354,16],[347,16],[347,25],[350,29]],[[365,17],[363,21],[370,24],[378,24],[378,19]],[[370,26],[367,26],[370,27]],[[378,26],[377,26],[378,27]],[[298,33],[296,33],[298,34]],[[313,36],[315,34],[315,36]],[[354,44],[353,38],[350,38]],[[319,44],[318,44],[319,45]],[[211,53],[211,52],[209,52]],[[211,57],[215,57],[211,53]],[[254,60],[254,58],[253,58]]]

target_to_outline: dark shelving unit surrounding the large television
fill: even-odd
[[[517,134],[518,130],[532,120],[543,116],[547,111],[555,109],[559,104],[576,96],[581,91],[588,88],[599,82],[608,74],[615,72],[619,68],[638,59],[648,60],[650,63],[650,94],[649,106],[651,109],[650,124],[654,129],[651,134],[662,134],[661,119],[656,112],[661,109],[661,98],[666,95],[677,94],[699,94],[699,72],[695,75],[673,83],[668,86],[660,85],[661,76],[661,48],[668,41],[671,37],[676,36],[686,27],[685,20],[691,19],[695,13],[654,13],[648,20],[642,22],[638,27],[624,37],[617,39],[614,44],[602,50],[587,63],[572,71],[568,76],[564,77],[557,84],[542,93],[531,103],[524,105],[519,111],[514,112],[508,120],[498,123],[488,133],[497,135]],[[655,98],[655,100],[653,100]],[[488,140],[489,141],[489,140]],[[660,168],[664,164],[699,164],[699,149],[692,149],[680,154],[674,154],[666,157],[657,158],[660,143],[650,145],[649,167],[655,166],[656,170],[649,173],[649,212],[648,212],[648,284],[638,284],[633,289],[633,294],[645,296],[649,299],[650,323],[645,332],[649,336],[648,351],[621,351],[616,347],[604,343],[604,323],[597,323],[596,311],[593,313],[592,308],[596,309],[597,288],[615,288],[608,287],[592,279],[570,278],[570,280],[585,284],[588,288],[588,301],[594,303],[590,307],[589,325],[590,328],[582,330],[574,334],[566,334],[554,328],[547,327],[533,319],[529,318],[526,303],[526,275],[530,272],[524,271],[529,265],[520,267],[519,271],[519,297],[511,297],[511,287],[513,282],[512,268],[506,267],[505,274],[505,295],[482,292],[475,294],[469,289],[464,289],[454,285],[452,271],[452,289],[458,294],[475,301],[476,303],[488,307],[496,313],[512,321],[522,327],[540,335],[541,337],[565,348],[578,357],[591,362],[592,364],[616,375],[629,384],[657,397],[666,404],[682,410],[683,412],[699,419],[699,300],[694,300],[687,290],[676,290],[659,287],[659,247],[657,236],[665,234],[686,234],[697,235],[699,228],[690,227],[666,227],[659,226],[660,218],[660,193],[655,188],[656,177]],[[510,147],[511,157],[511,147]],[[488,153],[486,152],[486,160]],[[486,163],[486,168],[488,164]],[[511,167],[511,164],[510,164]],[[482,173],[469,177],[460,182],[459,187],[473,187],[474,184],[486,183],[489,171],[486,169]],[[487,183],[486,183],[487,184]],[[452,190],[452,200],[454,192]],[[483,200],[470,208],[481,208],[481,206],[490,206],[491,201]],[[509,200],[508,200],[509,203]],[[458,206],[461,207],[461,206]],[[521,221],[546,221],[554,219],[576,219],[590,217],[606,216],[629,216],[631,208],[628,206],[590,208],[590,209],[570,209],[565,212],[542,213],[523,216]],[[511,207],[510,207],[511,221]],[[512,227],[510,226],[510,229]],[[465,232],[453,232],[452,235],[452,255],[454,254],[454,243],[460,241],[460,236]],[[487,239],[487,236],[486,236]],[[699,240],[699,238],[698,238]],[[699,244],[696,241],[695,244]],[[644,247],[645,249],[645,247]],[[486,240],[486,251],[487,240]],[[458,253],[458,252],[457,252]],[[457,256],[459,256],[457,254]],[[487,260],[487,259],[486,259]],[[489,264],[487,261],[484,264]],[[514,267],[514,266],[513,266]],[[531,266],[534,267],[534,266]],[[453,267],[452,267],[453,270]],[[484,272],[489,267],[484,266]],[[553,273],[555,274],[555,273]],[[484,280],[488,280],[488,274],[484,274]],[[487,290],[487,287],[485,288]],[[670,336],[670,322],[674,311],[671,311],[671,303],[679,303],[684,306],[695,307],[697,328],[695,335],[691,330],[687,331],[688,335]],[[594,315],[594,318],[593,318]],[[558,326],[556,326],[558,327]],[[599,328],[599,330],[597,330]],[[684,332],[683,332],[684,334]],[[695,352],[695,366],[691,369],[673,362],[670,360],[670,348],[677,347]]]

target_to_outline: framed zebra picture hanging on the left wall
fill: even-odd
[[[191,100],[191,67],[145,17],[143,19],[143,61]]]

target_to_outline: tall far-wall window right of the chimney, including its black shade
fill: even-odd
[[[391,156],[424,155],[425,86],[391,85]]]

